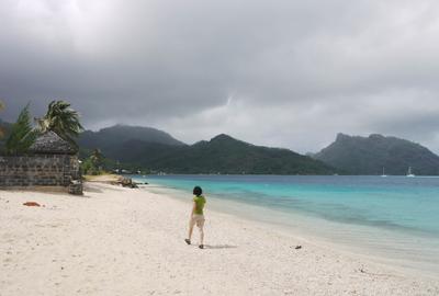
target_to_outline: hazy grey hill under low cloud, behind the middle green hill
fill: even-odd
[[[106,153],[112,153],[112,151],[120,150],[121,145],[124,145],[126,141],[131,140],[170,146],[185,145],[184,143],[172,138],[169,134],[162,130],[151,127],[128,125],[114,125],[102,128],[99,132],[86,130],[79,136],[78,144],[81,148],[100,148]]]

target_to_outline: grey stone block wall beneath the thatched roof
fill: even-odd
[[[0,187],[68,187],[74,180],[80,180],[75,155],[0,157]]]

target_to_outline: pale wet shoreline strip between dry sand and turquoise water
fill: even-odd
[[[179,202],[185,201],[188,194],[181,189],[154,182],[144,189],[168,195]],[[425,249],[419,249],[419,246],[425,246],[426,239],[428,239],[428,246],[432,246],[429,237],[417,237],[416,240],[412,240],[389,229],[318,219],[299,212],[282,212],[243,201],[223,200],[222,196],[214,194],[209,194],[209,209],[250,220],[270,231],[307,240],[316,246],[325,246],[326,249],[337,250],[350,257],[363,258],[408,275],[419,273],[430,277],[439,275],[437,251],[424,253]],[[437,246],[439,248],[439,244]]]

